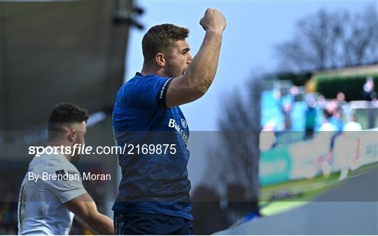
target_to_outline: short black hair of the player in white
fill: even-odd
[[[48,131],[60,132],[64,125],[82,123],[88,120],[88,111],[75,104],[59,103],[52,109],[48,118]]]

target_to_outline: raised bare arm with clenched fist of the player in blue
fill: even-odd
[[[199,99],[214,81],[222,34],[226,26],[225,17],[216,9],[208,8],[200,20],[200,25],[206,31],[202,46],[189,64],[186,73],[174,78],[169,84],[166,95],[167,107],[179,106]]]

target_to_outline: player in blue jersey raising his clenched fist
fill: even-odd
[[[206,34],[194,58],[188,29],[171,24],[149,29],[142,41],[141,73],[118,90],[113,111],[117,145],[151,141],[158,152],[119,155],[122,180],[113,205],[117,235],[193,234],[189,128],[179,105],[202,97],[213,82],[226,21],[208,8],[200,25]],[[168,149],[172,153],[159,149],[162,144],[174,144]]]

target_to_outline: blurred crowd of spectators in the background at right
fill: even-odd
[[[378,109],[378,107],[373,105],[373,101],[377,101],[377,93],[374,92],[372,77],[368,76],[366,78],[361,90],[363,99],[366,101],[364,108],[369,111],[364,117],[367,120],[366,126],[367,128],[373,128],[377,118],[374,110]],[[306,109],[304,109],[302,117],[293,116],[295,101],[297,101],[299,95],[296,86],[291,86],[287,95],[281,95],[279,90],[274,90],[273,94],[276,107],[283,117],[283,122],[279,123],[278,119],[272,118],[263,125],[262,137],[260,137],[261,151],[267,151],[279,143],[277,137],[284,134],[287,134],[285,136],[286,140],[298,141],[298,139],[290,139],[290,137],[301,135],[301,139],[308,140],[314,139],[316,132],[326,131],[340,134],[344,131],[363,130],[357,118],[356,111],[358,111],[358,108],[352,107],[350,102],[346,102],[344,92],[338,92],[336,97],[332,99],[325,99],[321,94],[304,93],[302,97],[304,97]],[[299,119],[304,120],[304,127],[302,130],[295,130],[293,129],[293,123],[298,122]],[[287,131],[290,131],[291,134],[288,134]]]

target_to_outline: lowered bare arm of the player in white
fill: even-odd
[[[97,211],[97,206],[89,194],[85,193],[64,204],[94,233],[99,235],[114,234],[113,221]]]

